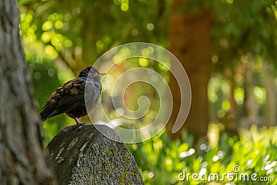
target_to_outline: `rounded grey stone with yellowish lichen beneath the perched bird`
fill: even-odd
[[[58,184],[143,184],[139,167],[124,143],[106,125],[69,126],[48,144]]]

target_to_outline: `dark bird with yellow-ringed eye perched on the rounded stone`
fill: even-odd
[[[86,116],[98,103],[102,90],[100,76],[103,75],[105,73],[99,73],[94,67],[87,67],[80,71],[77,78],[57,88],[39,114],[42,122],[65,113],[73,118],[77,125],[81,124],[77,118]]]

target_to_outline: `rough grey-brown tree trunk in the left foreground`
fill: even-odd
[[[53,184],[19,37],[15,0],[0,1],[0,184]]]

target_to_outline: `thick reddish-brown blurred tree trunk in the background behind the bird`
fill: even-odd
[[[170,51],[179,59],[190,79],[192,103],[184,127],[195,136],[195,142],[206,135],[208,128],[208,80],[211,76],[211,11],[184,12],[188,1],[175,0],[170,15]],[[182,11],[183,10],[183,11]],[[172,139],[181,138],[181,130],[172,134],[179,113],[179,86],[170,74],[173,110],[168,133]]]

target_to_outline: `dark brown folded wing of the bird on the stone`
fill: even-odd
[[[40,114],[42,121],[84,105],[85,82],[83,78],[75,78],[53,92]]]

